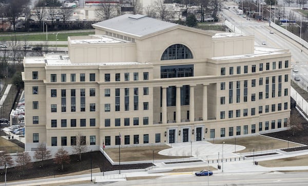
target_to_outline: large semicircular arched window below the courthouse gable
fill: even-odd
[[[169,59],[192,59],[192,54],[185,45],[175,44],[168,47],[161,57],[161,60]]]

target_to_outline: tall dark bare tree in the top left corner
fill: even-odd
[[[8,16],[13,24],[13,30],[15,32],[15,25],[19,14],[23,11],[23,6],[27,5],[29,0],[10,0],[8,1]]]

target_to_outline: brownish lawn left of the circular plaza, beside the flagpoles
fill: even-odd
[[[149,147],[128,147],[120,148],[121,161],[144,161],[153,159],[177,159],[189,156],[164,156],[158,154],[159,151],[169,149],[167,145],[162,146],[149,146]],[[113,161],[119,161],[119,148],[105,149],[105,152]]]

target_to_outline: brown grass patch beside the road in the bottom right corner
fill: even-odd
[[[258,164],[263,167],[308,166],[308,155],[259,161]]]

